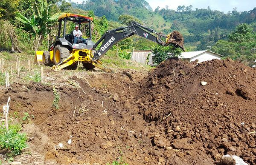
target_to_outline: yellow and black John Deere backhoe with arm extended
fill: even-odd
[[[79,25],[87,26],[87,38],[85,43],[78,40],[74,42],[74,36],[71,32],[67,34],[67,22],[72,21]],[[100,59],[103,55],[116,43],[125,38],[137,34],[140,37],[151,40],[162,46],[173,44],[175,47],[183,48],[183,37],[178,31],[165,35],[157,33],[151,28],[144,27],[135,21],[131,21],[127,27],[119,27],[113,30],[108,30],[102,37],[94,43],[92,41],[91,23],[92,17],[87,17],[79,14],[64,13],[58,17],[58,34],[56,40],[49,46],[48,51],[36,51],[35,62],[42,62],[44,65],[51,65],[52,69],[59,71],[63,68],[76,68],[77,63],[81,62],[87,69],[93,69],[95,66],[104,71],[110,71],[102,64]],[[96,49],[99,44],[101,46]]]

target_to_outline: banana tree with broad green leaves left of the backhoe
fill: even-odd
[[[51,27],[58,19],[58,16],[61,14],[56,13],[50,16],[48,12],[50,6],[51,4],[48,4],[47,0],[36,0],[31,18],[27,18],[20,13],[17,13],[17,17],[15,17],[23,24],[22,28],[32,34],[33,37],[35,37],[35,51],[38,50],[42,36],[46,36],[50,33]]]

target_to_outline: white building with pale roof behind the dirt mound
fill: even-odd
[[[195,61],[198,60],[198,62],[208,61],[212,59],[218,59],[221,60],[221,54],[214,53],[209,50],[205,51],[188,51],[188,52],[182,52],[179,58],[188,60],[188,61]]]

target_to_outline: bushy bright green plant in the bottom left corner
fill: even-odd
[[[7,156],[13,157],[21,154],[23,148],[26,148],[26,134],[19,133],[21,125],[9,125],[7,131],[3,123],[0,126],[0,150],[6,151]]]

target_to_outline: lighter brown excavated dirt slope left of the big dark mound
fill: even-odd
[[[121,159],[129,164],[157,164],[163,160],[146,136],[151,132],[149,124],[132,108],[139,90],[133,87],[143,74],[125,71],[71,79],[79,83],[78,88],[55,87],[61,95],[59,109],[52,106],[54,94],[47,85],[15,84],[0,90],[1,102],[12,97],[11,115],[15,112],[22,117],[28,112],[35,117],[30,122],[39,130],[33,125],[24,128],[29,132],[30,148],[46,162],[57,164],[106,164]]]

